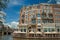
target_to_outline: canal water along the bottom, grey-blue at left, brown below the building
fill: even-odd
[[[0,40],[13,40],[13,36],[12,35],[4,35],[4,36],[0,36]],[[14,40],[60,40],[60,38],[19,38],[19,37],[15,37]]]

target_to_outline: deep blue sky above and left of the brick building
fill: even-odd
[[[20,16],[19,12],[23,6],[48,2],[55,3],[53,0],[10,0],[7,8],[4,10],[4,12],[6,13],[6,22],[11,23],[13,21],[18,21]]]

